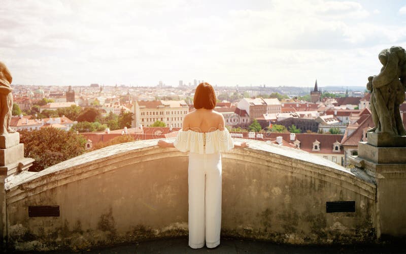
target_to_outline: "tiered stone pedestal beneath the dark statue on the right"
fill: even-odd
[[[401,146],[406,137],[367,137],[368,142],[358,143],[358,156],[350,156],[350,162],[375,179],[377,237],[406,239],[406,143]]]

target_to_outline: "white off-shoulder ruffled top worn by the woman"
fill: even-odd
[[[234,141],[227,129],[223,131],[217,129],[206,133],[180,130],[174,141],[174,146],[182,152],[216,153],[231,150],[234,148]]]

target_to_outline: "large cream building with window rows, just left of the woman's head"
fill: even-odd
[[[181,128],[183,118],[189,113],[189,106],[185,101],[134,101],[133,127],[142,124],[144,127],[151,126],[159,120],[166,126]]]

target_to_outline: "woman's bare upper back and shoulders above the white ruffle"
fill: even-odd
[[[209,109],[196,109],[185,116],[183,131],[213,132],[219,129],[224,130],[223,116]]]

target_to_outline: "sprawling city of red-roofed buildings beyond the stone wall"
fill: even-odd
[[[173,137],[182,128],[185,115],[194,110],[198,82],[203,80],[187,85],[179,81],[174,87],[162,81],[145,87],[96,83],[69,87],[14,85],[11,128],[31,131],[50,126],[74,130],[86,139],[87,150],[103,147],[103,142],[111,145],[111,139],[118,135],[127,138],[116,138],[117,143]],[[303,89],[265,85],[214,87],[214,110],[224,116],[233,137],[293,147],[344,167],[353,167],[347,158],[357,155],[357,143],[366,141],[366,132],[374,127],[366,87],[326,90],[317,80],[313,87]],[[300,91],[300,95],[291,94],[292,91]],[[96,113],[83,117],[91,110]],[[406,123],[406,103],[400,110]],[[127,121],[119,124],[119,115],[126,116]]]

